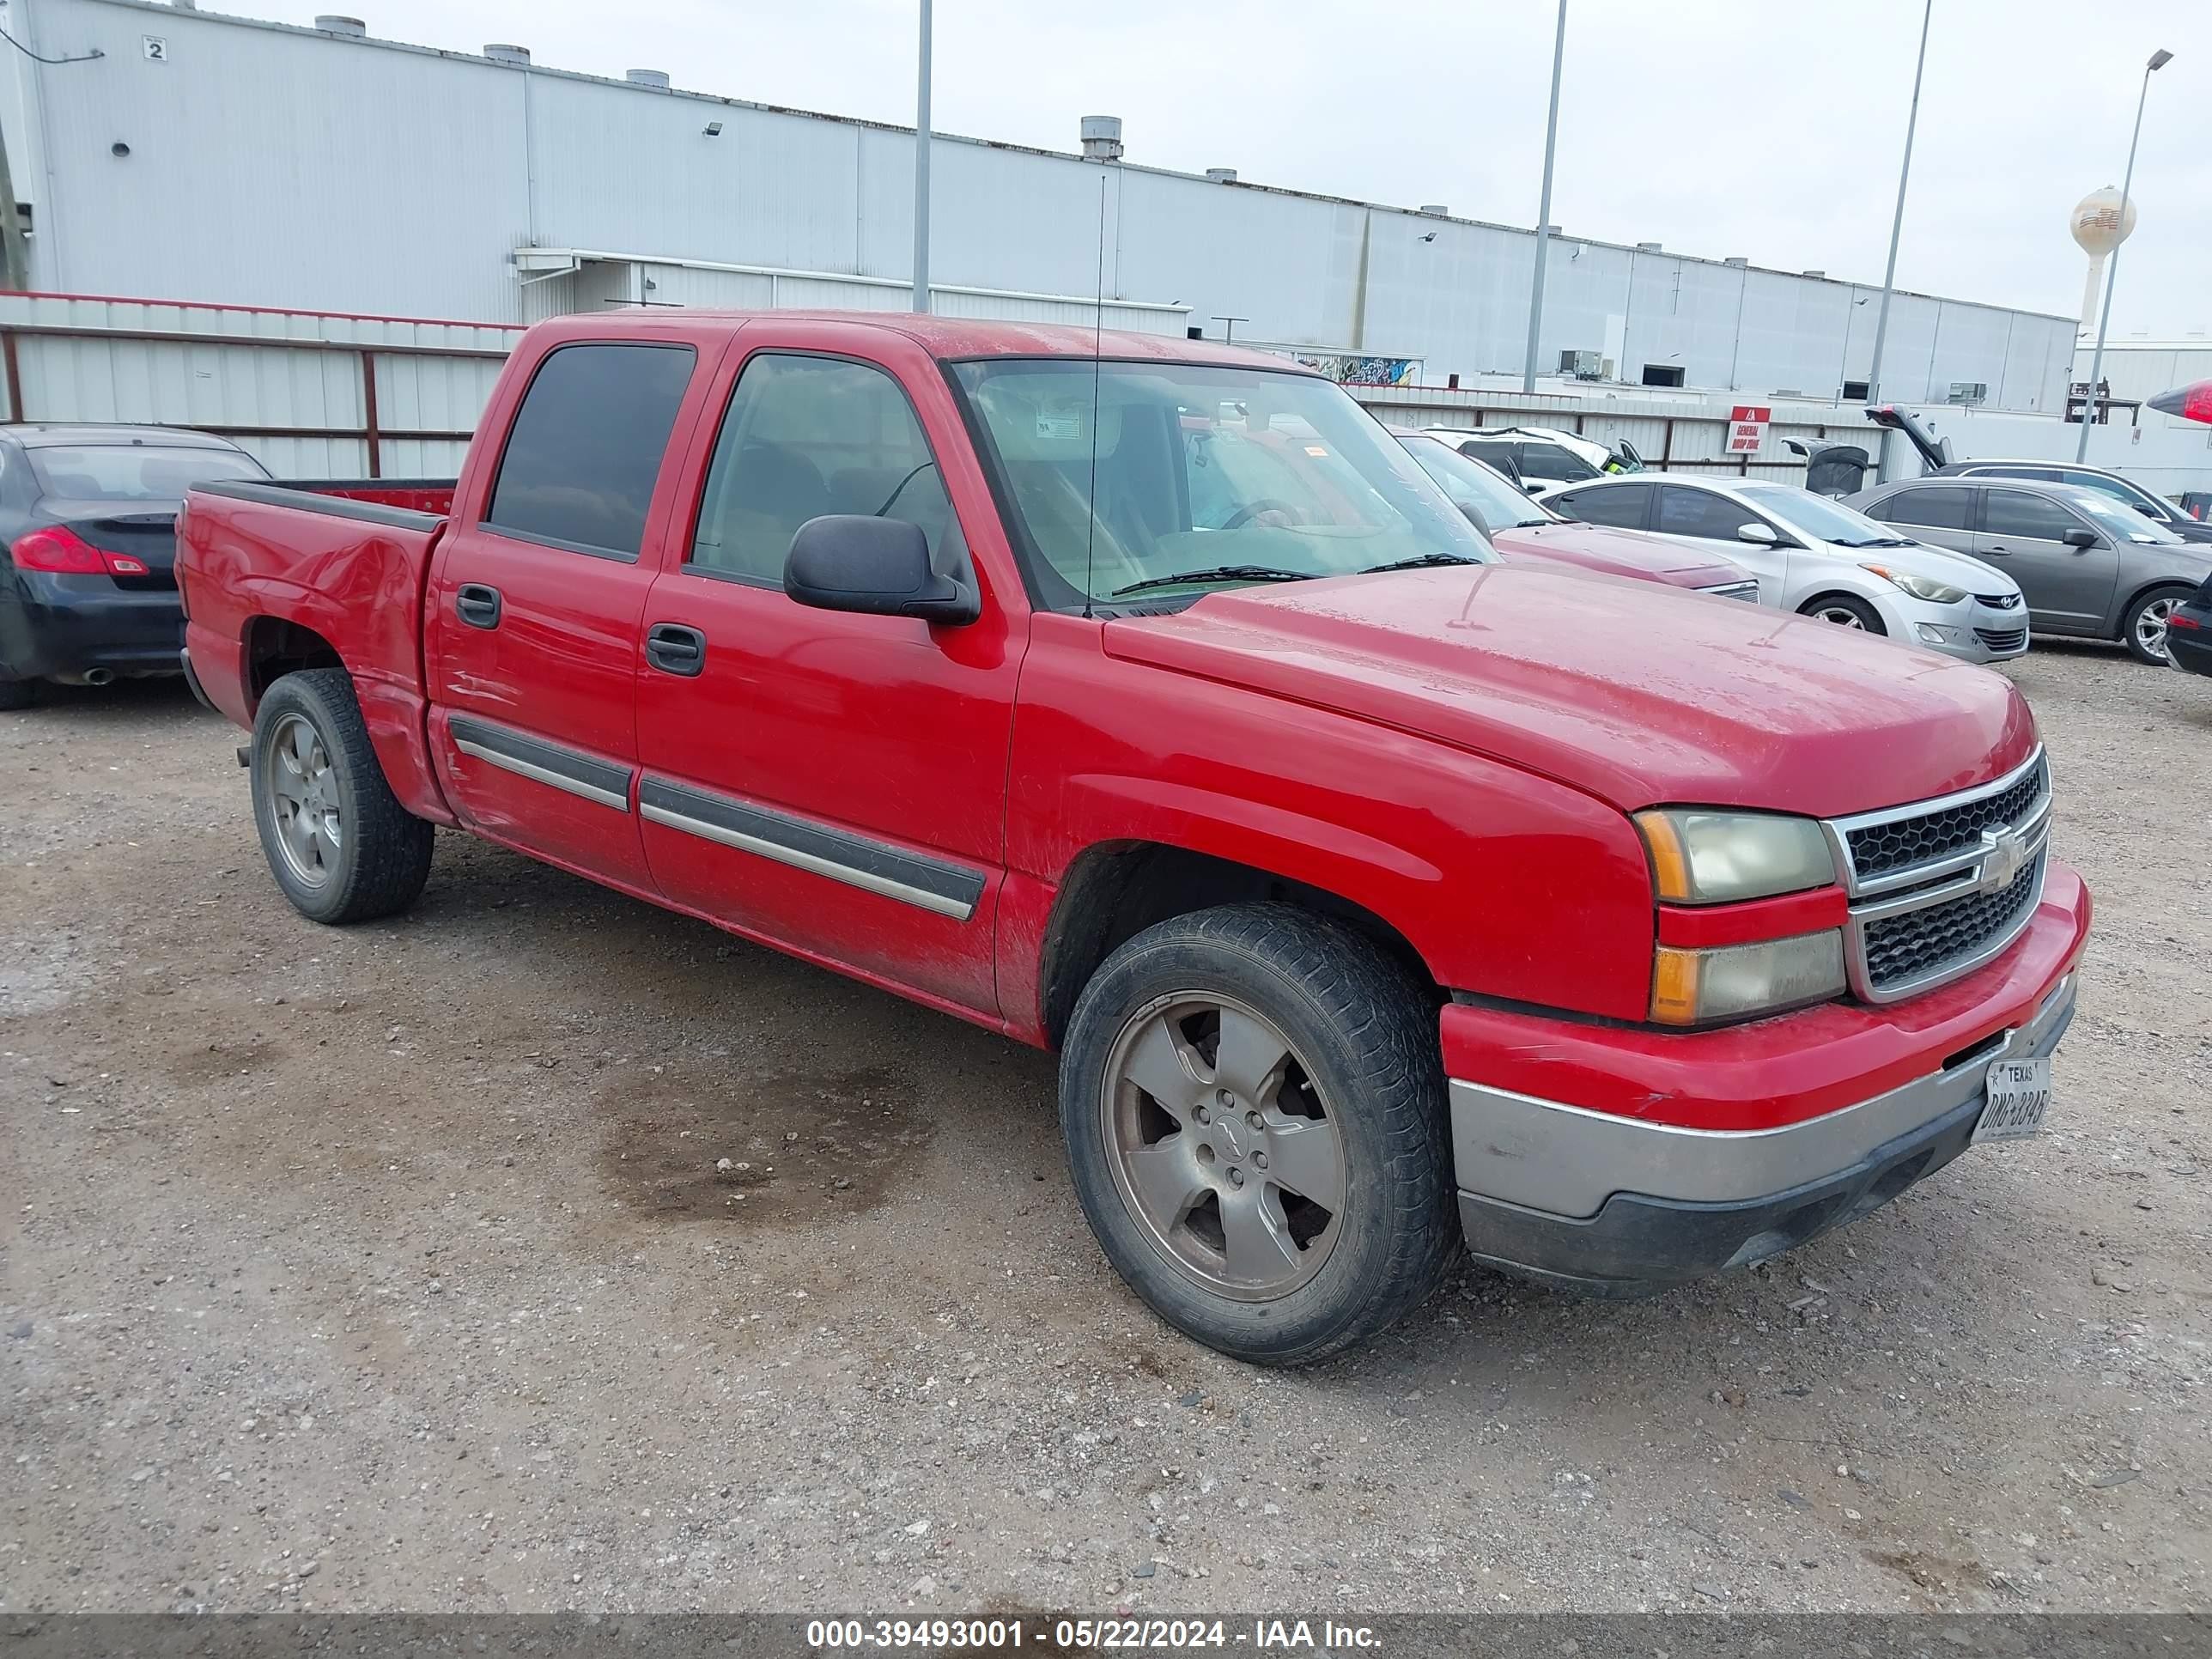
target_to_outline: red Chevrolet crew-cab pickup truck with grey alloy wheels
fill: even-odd
[[[1310,1360],[1455,1256],[1761,1261],[2033,1130],[2088,891],[2008,681],[1495,562],[1201,341],[533,327],[445,511],[190,493],[186,668],[310,918],[449,825],[1060,1053],[1097,1239]]]

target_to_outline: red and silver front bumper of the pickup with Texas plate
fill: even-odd
[[[1882,1009],[1829,1004],[1690,1035],[1562,1026],[1546,1053],[1526,1029],[1453,1022],[1526,1026],[1531,1015],[1455,1004],[1447,1064],[1467,1248],[1540,1279],[1644,1294],[1765,1261],[1880,1208],[1966,1148],[1993,1060],[2057,1046],[2086,929],[2086,889],[2053,865],[2006,956]],[[1484,1066],[1478,1046],[1500,1037],[1513,1062]],[[1601,1066],[1608,1037],[1615,1064]],[[1522,1082],[1544,1060],[1582,1104],[1495,1082]],[[1590,1104],[1599,1097],[1606,1106]]]

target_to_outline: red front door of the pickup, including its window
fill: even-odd
[[[646,858],[668,898],[739,931],[995,1013],[1026,611],[1013,595],[1015,635],[1004,593],[964,628],[785,597],[783,557],[812,518],[920,524],[940,571],[980,582],[953,504],[989,513],[918,347],[898,347],[916,358],[909,398],[883,365],[805,338],[803,321],[750,323],[714,392],[719,429],[692,447],[697,509],[672,526],[637,668]]]

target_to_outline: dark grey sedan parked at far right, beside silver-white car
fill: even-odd
[[[2011,575],[2042,633],[2119,639],[2166,661],[2166,619],[2212,575],[2183,542],[2099,489],[2028,480],[1911,478],[1851,498],[1869,518]]]

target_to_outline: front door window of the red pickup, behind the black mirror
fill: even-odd
[[[898,380],[867,363],[761,352],[721,418],[686,564],[783,586],[799,526],[827,513],[916,524],[931,562],[958,573],[945,476]]]

